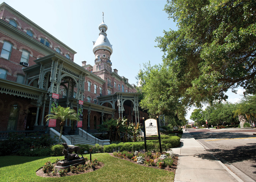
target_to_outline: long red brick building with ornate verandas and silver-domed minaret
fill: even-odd
[[[75,110],[83,100],[83,130],[95,130],[110,118],[125,116],[133,123],[148,118],[139,108],[136,86],[112,69],[103,20],[98,28],[93,66],[79,66],[74,50],[6,3],[0,5],[0,132],[45,131],[53,94],[59,94],[60,106]],[[64,131],[75,125],[66,121]]]

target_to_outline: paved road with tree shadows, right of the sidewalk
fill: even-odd
[[[232,164],[256,181],[256,130],[187,130],[208,151],[224,159],[223,163]]]

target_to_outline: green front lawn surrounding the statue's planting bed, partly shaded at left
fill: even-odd
[[[90,158],[89,155],[85,157]],[[97,158],[105,166],[99,170],[61,178],[38,177],[35,172],[45,162],[54,162],[57,158],[63,157],[23,157],[4,156],[0,159],[0,181],[1,182],[165,182],[174,181],[174,173],[140,166],[129,161],[118,159],[107,153],[92,154],[92,159]]]

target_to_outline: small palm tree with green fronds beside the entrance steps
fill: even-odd
[[[47,116],[45,116],[45,118],[46,118],[46,121],[48,121],[49,119],[60,120],[60,139],[61,139],[65,120],[66,119],[79,120],[79,116],[74,109],[71,109],[70,107],[61,107],[61,106],[58,106],[57,108],[53,108],[52,114],[48,114]]]

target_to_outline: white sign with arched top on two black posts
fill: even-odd
[[[159,140],[160,153],[162,153],[158,116],[157,116],[157,120],[147,119],[145,121],[143,118],[143,131],[144,131],[145,150],[147,151],[147,140]]]

